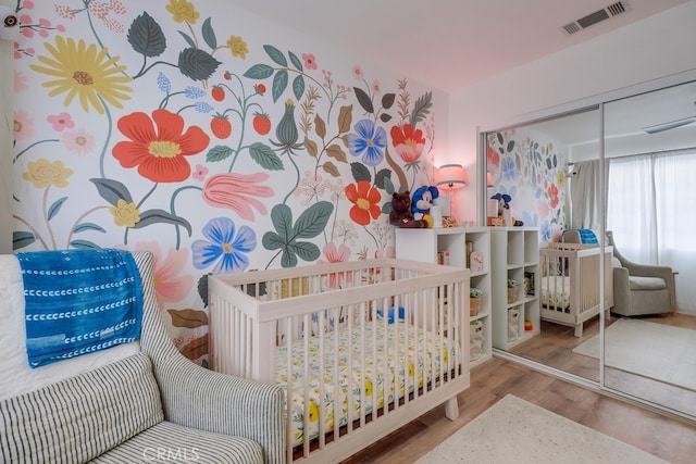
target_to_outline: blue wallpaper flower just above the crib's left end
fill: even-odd
[[[235,223],[228,217],[212,218],[203,227],[208,240],[196,240],[191,246],[194,266],[204,269],[216,262],[213,274],[245,271],[249,265],[247,253],[257,248],[257,235],[249,226],[241,226],[235,236]]]

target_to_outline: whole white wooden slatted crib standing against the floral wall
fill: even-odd
[[[368,260],[211,276],[210,364],[283,385],[287,461],[337,462],[469,388],[469,272]]]

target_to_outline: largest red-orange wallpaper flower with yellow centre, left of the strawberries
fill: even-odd
[[[198,126],[184,131],[184,118],[169,110],[154,110],[152,118],[142,112],[119,120],[119,130],[130,140],[120,141],[113,155],[123,167],[138,167],[138,174],[154,183],[178,183],[191,174],[185,156],[208,147],[210,137]]]

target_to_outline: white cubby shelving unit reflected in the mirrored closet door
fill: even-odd
[[[539,239],[533,227],[490,227],[493,347],[508,351],[539,334]],[[525,289],[525,277],[532,287]],[[508,279],[520,283],[508,302]],[[517,311],[518,316],[511,317]],[[525,322],[532,324],[525,330]]]

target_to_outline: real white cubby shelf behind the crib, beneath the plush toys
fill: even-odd
[[[424,263],[438,263],[439,256],[447,255],[450,266],[468,266],[467,248],[471,243],[471,251],[481,253],[483,268],[480,271],[470,269],[470,286],[480,288],[483,291],[478,314],[469,316],[470,323],[480,321],[483,333],[482,354],[471,360],[473,367],[489,360],[492,350],[492,304],[493,293],[490,291],[490,233],[488,227],[434,227],[431,229],[408,229],[396,228],[396,258],[402,260],[421,261]],[[468,302],[467,302],[468,303]],[[469,310],[469,304],[467,304]]]

